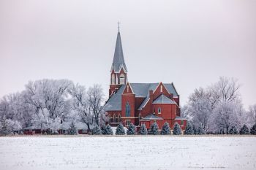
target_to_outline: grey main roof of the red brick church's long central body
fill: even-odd
[[[149,90],[155,90],[159,83],[129,83],[132,87],[135,97],[145,98],[139,109],[145,107],[149,98]],[[167,88],[169,93],[173,93],[173,96],[178,96],[173,83],[163,84]],[[125,85],[121,85],[118,91],[111,96],[104,106],[105,111],[121,111],[121,94],[124,92]]]

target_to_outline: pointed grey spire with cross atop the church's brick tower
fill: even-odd
[[[124,72],[127,72],[127,66],[124,63],[124,53],[121,45],[121,36],[120,36],[119,22],[118,22],[118,34],[116,38],[116,48],[115,48],[113,63],[111,67],[111,72],[112,72],[112,69],[114,70],[114,72],[120,72],[121,67],[123,67]]]

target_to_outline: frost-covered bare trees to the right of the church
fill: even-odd
[[[244,109],[239,93],[241,85],[234,78],[220,77],[206,88],[197,88],[181,108],[195,134],[238,134],[256,123],[256,104]],[[201,132],[200,132],[201,133]]]

